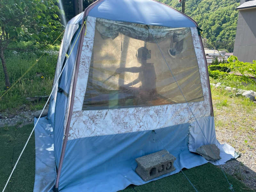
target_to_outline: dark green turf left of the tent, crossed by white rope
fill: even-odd
[[[0,127],[0,190],[4,188],[32,129],[33,124],[21,128]],[[34,178],[35,136],[33,133],[5,191],[33,191]]]

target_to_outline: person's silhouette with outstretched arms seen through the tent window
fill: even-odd
[[[124,92],[132,91],[132,94],[139,97],[139,103],[145,104],[147,101],[154,100],[156,98],[156,71],[153,63],[147,63],[147,60],[151,58],[151,53],[146,47],[140,47],[137,50],[136,57],[141,64],[140,67],[131,68],[117,68],[116,74],[122,72],[139,73],[137,79],[131,83],[120,86]],[[141,82],[140,87],[132,87]]]

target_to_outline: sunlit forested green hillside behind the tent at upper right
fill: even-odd
[[[178,0],[158,1],[181,11],[181,3]],[[233,52],[238,17],[236,7],[239,6],[239,2],[239,0],[187,0],[185,14],[196,20],[207,39],[212,39],[217,49]],[[212,48],[209,44],[206,46]]]

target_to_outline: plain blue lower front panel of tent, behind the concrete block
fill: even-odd
[[[189,124],[155,130],[68,140],[59,191],[118,191],[144,182],[135,172],[135,158],[162,149],[176,156],[176,170],[157,180],[207,161],[188,150]],[[79,146],[79,147],[78,147]],[[185,178],[184,178],[185,182]],[[187,181],[186,181],[187,182]]]

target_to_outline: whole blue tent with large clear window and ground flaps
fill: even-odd
[[[220,164],[234,158],[234,148],[216,140],[198,26],[165,4],[91,4],[67,24],[56,82],[36,126],[34,191],[142,185],[135,158],[162,149],[176,169],[153,180],[207,163],[191,153],[202,145],[220,148]]]

